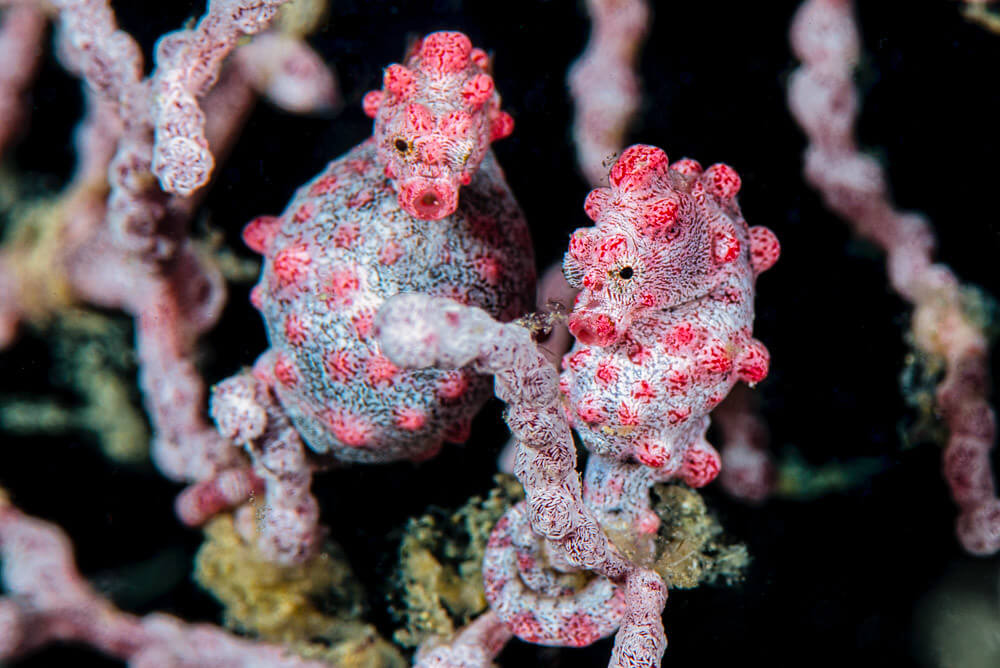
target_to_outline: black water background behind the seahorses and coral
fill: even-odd
[[[706,492],[728,531],[753,556],[746,581],[729,589],[671,592],[664,664],[676,667],[915,664],[923,632],[914,608],[949,572],[996,591],[997,560],[963,556],[954,508],[933,445],[903,450],[906,413],[899,373],[908,309],[887,288],[878,254],[852,241],[800,177],[803,138],[785,107],[794,66],[786,40],[792,0],[659,2],[642,59],[646,98],[631,133],[672,157],[724,161],[742,175],[750,224],[770,226],[782,259],[759,283],[757,336],[771,350],[760,385],[777,449],[793,445],[812,463],[881,456],[885,470],[843,494],[750,508]],[[959,16],[946,0],[858,3],[867,52],[862,143],[879,151],[901,207],[934,221],[939,257],[967,281],[1000,294],[1000,35]],[[164,31],[200,15],[203,3],[114,2],[147,57]],[[569,232],[588,224],[586,184],[569,142],[564,75],[583,48],[582,3],[334,0],[312,44],[334,63],[347,105],[334,118],[301,118],[261,104],[205,209],[233,247],[242,225],[280,212],[293,189],[364,139],[363,94],[398,61],[408,37],[457,29],[496,55],[497,88],[515,120],[496,145],[536,242],[540,266],[563,252]],[[16,151],[20,169],[58,186],[73,163],[70,132],[80,116],[77,84],[49,55],[35,87],[33,129]],[[246,256],[250,256],[249,252]],[[206,341],[205,373],[220,380],[265,347],[249,307],[249,285],[234,286],[222,325]],[[27,338],[0,354],[0,389],[42,392],[48,358]],[[505,438],[491,405],[464,448],[448,447],[416,466],[355,468],[322,475],[315,489],[323,520],[370,591],[372,619],[387,635],[384,603],[398,529],[430,505],[456,507],[490,486]],[[83,436],[4,436],[0,484],[26,511],[72,536],[88,575],[168,550],[193,555],[200,532],[178,525],[179,487],[155,472],[111,466]],[[160,610],[215,621],[218,607],[186,577],[136,612]],[[599,666],[610,641],[587,650],[540,650],[514,642],[504,666]],[[56,648],[20,666],[118,665],[89,650]]]

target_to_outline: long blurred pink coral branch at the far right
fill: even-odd
[[[884,170],[858,150],[852,75],[860,37],[852,3],[807,1],[792,24],[791,42],[803,65],[789,82],[788,104],[809,137],[806,179],[827,206],[886,252],[892,287],[914,307],[917,347],[945,360],[936,400],[950,431],[943,468],[960,509],[956,530],[967,551],[992,554],[1000,550],[1000,498],[990,468],[996,416],[987,401],[986,335],[963,309],[958,278],[932,262],[928,221],[893,206]]]

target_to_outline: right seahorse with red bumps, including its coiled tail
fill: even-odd
[[[670,165],[660,149],[633,146],[610,184],[588,196],[596,225],[574,233],[564,261],[581,293],[560,389],[590,451],[583,502],[641,555],[659,528],[649,488],[711,482],[719,456],[705,440],[708,413],[738,381],[767,374],[767,349],[751,334],[754,282],[780,249],[770,230],[743,220],[739,176],[725,165]],[[485,555],[487,599],[528,642],[576,647],[621,624],[611,665],[658,665],[662,580],[635,564],[624,578],[560,590],[567,566],[515,508]]]

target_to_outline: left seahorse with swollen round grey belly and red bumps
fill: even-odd
[[[244,231],[265,258],[252,299],[267,325],[274,392],[308,445],[335,460],[432,456],[466,439],[489,396],[487,379],[468,369],[389,362],[372,336],[386,298],[447,296],[504,321],[530,308],[530,237],[489,150],[512,126],[487,65],[459,33],[418,42],[365,98],[372,139],[304,186],[280,218]]]

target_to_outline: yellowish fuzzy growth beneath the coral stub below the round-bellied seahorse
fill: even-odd
[[[264,560],[229,515],[209,523],[205,538],[195,579],[225,607],[229,628],[336,666],[406,665],[395,647],[359,619],[362,592],[332,543],[310,562],[285,567]]]

